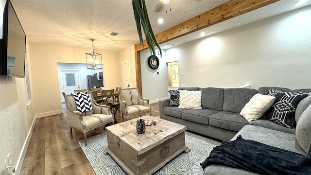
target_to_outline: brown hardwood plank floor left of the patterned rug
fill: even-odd
[[[152,116],[159,115],[159,104],[150,105]],[[70,139],[65,108],[63,112],[35,121],[20,175],[95,175],[78,143],[83,140],[82,132],[73,129],[73,139]],[[136,117],[139,116],[129,120]],[[122,122],[121,113],[116,113],[116,119]],[[87,132],[87,138],[104,132],[102,127],[97,128]]]

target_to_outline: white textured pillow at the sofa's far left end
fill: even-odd
[[[178,108],[202,109],[201,107],[202,91],[201,90],[179,90]]]

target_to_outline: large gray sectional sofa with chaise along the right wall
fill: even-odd
[[[180,88],[180,90],[182,89]],[[269,89],[309,93],[308,97],[301,100],[296,108],[297,127],[289,129],[263,118],[249,123],[239,114],[244,105],[256,93],[267,95]],[[311,121],[311,89],[291,90],[289,88],[261,87],[258,90],[251,88],[188,88],[187,90],[202,90],[202,109],[169,106],[169,98],[163,99],[159,101],[161,119],[186,125],[190,131],[218,140],[235,140],[237,136],[241,135],[246,140],[256,140],[302,155],[311,154],[311,151],[308,152],[311,146],[311,122],[309,122]],[[300,117],[303,119],[299,119]],[[303,122],[299,122],[299,120],[303,120]],[[310,128],[308,128],[308,124]],[[299,135],[296,135],[297,132]],[[296,139],[296,137],[300,138]],[[254,173],[220,165],[210,165],[205,169],[204,174],[252,175]]]

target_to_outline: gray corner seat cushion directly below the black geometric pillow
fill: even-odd
[[[252,121],[249,124],[261,126],[264,128],[269,128],[269,129],[273,129],[273,130],[281,131],[281,132],[285,132],[285,133],[295,134],[295,128],[292,128],[292,129],[286,128],[284,126],[279,125],[278,123],[266,120],[264,118]]]

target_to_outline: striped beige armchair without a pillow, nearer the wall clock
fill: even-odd
[[[151,115],[151,107],[149,100],[142,98],[137,88],[126,88],[120,90],[120,107],[122,112],[122,121],[124,121],[124,115],[126,120],[129,116],[140,115],[142,113],[149,112]]]

